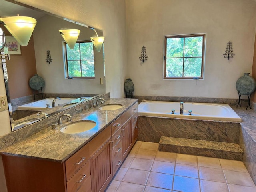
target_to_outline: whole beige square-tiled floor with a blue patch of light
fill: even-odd
[[[243,162],[158,151],[137,141],[105,192],[256,192]]]

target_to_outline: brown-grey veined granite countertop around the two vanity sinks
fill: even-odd
[[[57,129],[52,129],[52,126],[42,129],[30,137],[0,150],[0,154],[62,163],[137,101],[137,99],[110,98],[105,104],[121,104],[123,107],[108,111],[100,110],[98,107],[89,108],[72,117],[72,122],[80,120],[95,121],[97,125],[93,129],[78,134],[62,133],[60,128],[70,123],[64,118],[62,120],[63,125],[58,126]]]

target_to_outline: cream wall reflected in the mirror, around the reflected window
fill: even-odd
[[[60,18],[45,15],[38,19],[33,32],[36,55],[36,70],[44,78],[44,93],[76,93],[76,94],[104,94],[106,93],[104,78],[103,52],[94,48],[95,79],[66,79],[63,59],[63,41],[60,29],[79,29],[78,40],[90,40],[96,36],[94,30],[79,26]],[[102,36],[102,32],[98,32]],[[46,51],[50,50],[52,62],[46,62]]]

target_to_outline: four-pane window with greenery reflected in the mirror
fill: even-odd
[[[95,78],[92,41],[78,41],[74,49],[64,42],[66,78]]]

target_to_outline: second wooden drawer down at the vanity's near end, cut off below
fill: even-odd
[[[80,188],[84,188],[85,190],[81,190]],[[90,161],[86,162],[67,182],[67,192],[77,192],[78,190],[91,190]]]

